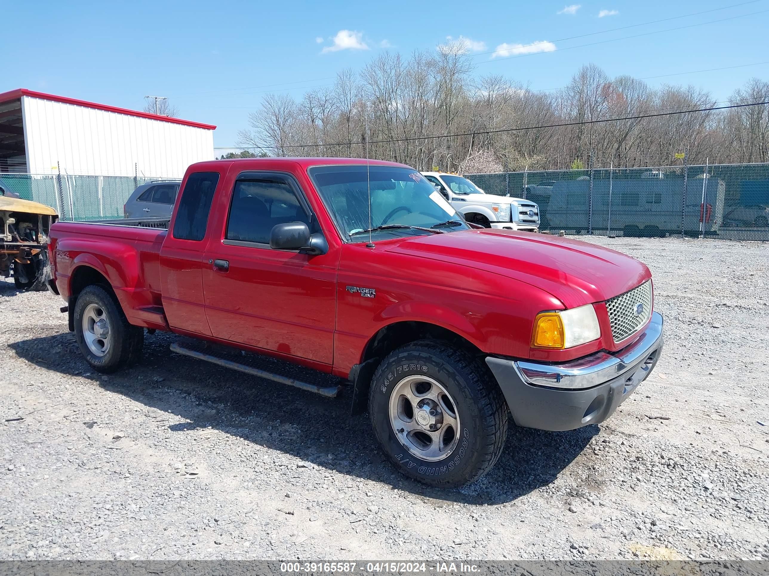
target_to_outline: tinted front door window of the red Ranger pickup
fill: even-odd
[[[227,240],[269,244],[276,224],[304,222],[310,217],[285,177],[238,180],[227,220]]]

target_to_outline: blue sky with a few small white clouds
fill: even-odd
[[[769,61],[769,0],[734,6],[741,2],[5,2],[0,91],[132,109],[146,94],[168,96],[181,118],[216,124],[215,146],[225,147],[266,91],[298,96],[378,51],[408,55],[461,36],[476,74],[504,74],[533,89],[564,86],[589,62],[637,78],[751,65],[647,79],[694,84],[725,100],[747,79],[769,78],[769,64],[753,65]],[[747,16],[723,20],[740,15]],[[681,26],[690,27],[662,31]],[[662,32],[627,38],[652,31]],[[530,51],[538,53],[515,57]]]

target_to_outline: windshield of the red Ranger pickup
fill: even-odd
[[[411,168],[371,166],[368,177],[365,165],[318,166],[308,173],[342,237],[350,242],[368,240],[368,233],[361,232],[369,229],[372,238],[381,239],[469,228],[438,190]]]

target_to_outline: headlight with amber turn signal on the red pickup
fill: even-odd
[[[542,312],[534,319],[532,348],[564,349],[601,337],[592,304],[560,312]]]

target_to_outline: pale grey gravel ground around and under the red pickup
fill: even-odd
[[[394,472],[347,400],[171,335],[98,376],[61,300],[0,282],[0,559],[769,558],[767,245],[591,241],[654,273],[657,369],[604,424],[512,428],[447,492]]]

